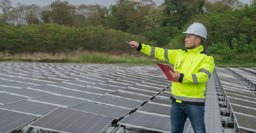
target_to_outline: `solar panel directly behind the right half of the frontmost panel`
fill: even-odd
[[[116,119],[120,119],[126,116],[127,114],[129,114],[129,112],[131,112],[131,110],[116,108],[116,107],[106,106],[101,104],[95,104],[91,102],[83,102],[81,104],[70,106],[69,108],[90,112],[94,114],[101,114],[103,116],[111,116],[111,117],[115,117]]]

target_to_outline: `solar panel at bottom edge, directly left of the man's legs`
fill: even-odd
[[[186,121],[187,123],[188,121]],[[161,133],[171,133],[170,116],[157,116],[152,114],[144,114],[134,112],[126,118],[119,121],[117,124],[158,131]]]

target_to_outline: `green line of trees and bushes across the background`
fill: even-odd
[[[137,41],[169,49],[185,49],[185,31],[195,22],[207,28],[202,45],[218,60],[256,61],[256,1],[117,0],[103,5],[73,5],[56,0],[47,6],[0,0],[0,51],[125,51]]]

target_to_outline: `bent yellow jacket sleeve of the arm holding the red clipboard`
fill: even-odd
[[[191,84],[198,84],[198,83],[206,83],[215,68],[214,59],[212,56],[207,56],[202,61],[199,67],[199,73],[195,74],[183,74],[181,73],[179,82],[182,83],[191,83]]]

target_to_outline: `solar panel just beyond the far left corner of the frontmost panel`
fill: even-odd
[[[75,98],[67,98],[67,97],[63,97],[63,96],[56,96],[56,95],[52,95],[52,94],[37,97],[37,98],[30,98],[28,100],[33,101],[33,102],[41,102],[43,104],[51,104],[54,106],[61,106],[61,107],[65,107],[65,108],[84,102],[84,100],[79,100],[79,99],[75,99]]]

